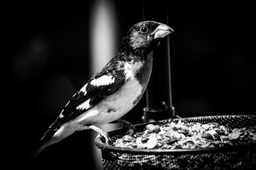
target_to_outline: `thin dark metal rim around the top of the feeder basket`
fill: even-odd
[[[204,117],[186,117],[186,118],[211,118],[211,117],[255,117],[256,115],[213,115],[213,116],[204,116]],[[183,118],[173,118],[173,120],[177,119],[183,119]],[[138,124],[134,125],[135,127],[139,127],[140,125],[147,125],[147,124],[158,124],[161,123],[165,120],[160,120],[156,122],[149,122],[149,123],[144,123],[144,124]],[[116,129],[111,132],[115,131],[120,131],[121,129],[124,129],[127,127],[123,127],[120,129]],[[138,148],[120,148],[120,147],[115,147],[112,145],[107,145],[106,143],[103,143],[101,141],[103,137],[100,136],[95,139],[95,145],[102,151],[104,152],[118,152],[118,153],[131,153],[131,154],[145,154],[145,155],[166,155],[166,154],[198,154],[198,153],[214,153],[214,152],[237,152],[238,150],[256,150],[256,144],[244,144],[244,145],[234,145],[234,146],[221,146],[221,147],[216,147],[216,148],[195,148],[195,149],[138,149]]]

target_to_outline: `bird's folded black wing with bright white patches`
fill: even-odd
[[[115,65],[115,66],[113,66]],[[72,120],[92,108],[104,98],[110,96],[116,90],[120,89],[125,83],[124,69],[120,64],[109,62],[99,73],[95,74],[81,90],[76,92],[72,99],[61,111],[60,116],[45,132],[44,139],[52,136],[58,130],[61,124]]]

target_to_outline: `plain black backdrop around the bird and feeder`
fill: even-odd
[[[147,3],[151,3],[147,1]],[[142,20],[141,1],[114,1],[118,39]],[[172,97],[180,117],[255,114],[255,17],[252,4],[182,5],[152,2],[157,16],[168,5]],[[89,77],[89,11],[12,8],[8,27],[8,106],[6,122],[9,167],[18,168],[63,106]],[[157,17],[156,17],[157,18]],[[118,43],[118,42],[116,42]],[[10,73],[10,74],[9,74]],[[3,73],[6,74],[6,73]],[[4,89],[3,89],[4,90]],[[4,90],[5,91],[5,90]],[[145,97],[124,119],[141,123]],[[90,131],[76,132],[49,146],[35,169],[93,169]],[[90,140],[92,141],[92,140]],[[49,166],[51,165],[51,166]]]

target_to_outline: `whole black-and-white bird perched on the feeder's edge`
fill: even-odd
[[[154,21],[132,26],[122,39],[120,50],[74,94],[30,158],[84,129],[99,132],[108,142],[106,132],[97,126],[124,116],[140,101],[150,78],[153,50],[170,32],[173,29],[168,25]]]

